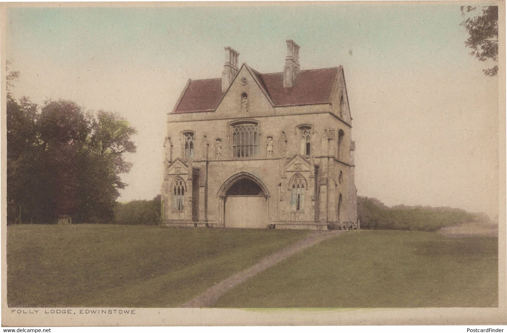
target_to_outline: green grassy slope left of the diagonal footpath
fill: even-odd
[[[174,307],[307,233],[116,225],[7,231],[10,307]]]

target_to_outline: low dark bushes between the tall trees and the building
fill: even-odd
[[[128,225],[158,225],[160,221],[160,194],[152,200],[118,202],[115,223]]]

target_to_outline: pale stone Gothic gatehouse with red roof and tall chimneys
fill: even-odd
[[[343,68],[301,70],[286,44],[282,72],[239,67],[226,47],[221,78],[187,81],[168,113],[161,225],[356,225]]]

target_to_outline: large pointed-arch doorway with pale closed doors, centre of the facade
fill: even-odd
[[[226,228],[267,228],[268,191],[255,176],[241,173],[227,180],[219,191],[223,198]]]

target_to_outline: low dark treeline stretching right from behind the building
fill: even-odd
[[[357,197],[357,218],[361,229],[391,229],[436,231],[442,227],[467,223],[486,222],[484,214],[469,213],[451,207],[406,206],[388,207],[376,198]]]

